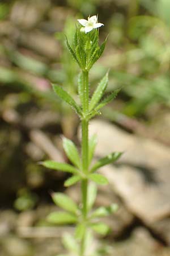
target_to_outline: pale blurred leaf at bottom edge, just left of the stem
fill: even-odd
[[[62,243],[66,247],[67,250],[73,252],[73,253],[78,253],[78,243],[75,241],[75,238],[71,236],[71,234],[66,233],[62,237]]]

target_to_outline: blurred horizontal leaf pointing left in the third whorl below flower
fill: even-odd
[[[77,221],[76,216],[68,212],[52,212],[47,220],[53,224],[73,224]]]

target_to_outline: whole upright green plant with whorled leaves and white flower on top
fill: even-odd
[[[121,152],[113,152],[92,163],[94,151],[96,147],[96,135],[88,138],[88,124],[92,117],[100,114],[100,109],[108,102],[112,101],[119,90],[115,90],[107,96],[104,92],[108,84],[108,72],[99,82],[95,92],[89,98],[90,84],[88,81],[88,74],[92,66],[99,59],[104,51],[107,39],[99,46],[99,30],[94,29],[102,26],[102,23],[97,23],[97,17],[92,16],[88,20],[78,20],[83,27],[78,26],[74,35],[74,45],[70,46],[67,38],[67,47],[73,56],[76,63],[78,63],[81,72],[78,77],[78,93],[81,102],[79,106],[73,97],[61,86],[54,85],[54,92],[67,104],[75,110],[78,114],[82,125],[82,157],[80,157],[78,149],[75,144],[67,138],[63,138],[63,148],[67,157],[73,166],[68,163],[58,163],[52,160],[42,162],[42,165],[53,170],[60,170],[72,174],[69,179],[65,181],[65,186],[69,187],[78,181],[81,183],[82,204],[77,205],[70,197],[64,193],[52,193],[52,199],[55,204],[61,207],[62,212],[53,212],[48,216],[48,221],[53,224],[75,224],[75,234],[71,237],[67,234],[63,238],[63,243],[74,253],[74,255],[84,256],[86,254],[87,246],[91,237],[91,230],[105,235],[109,231],[109,226],[104,222],[99,222],[99,217],[108,216],[115,212],[117,205],[112,204],[108,207],[100,207],[92,210],[95,203],[97,188],[95,184],[108,184],[105,176],[99,174],[97,170],[106,164],[113,163],[120,156]],[[91,252],[90,255],[97,255]]]

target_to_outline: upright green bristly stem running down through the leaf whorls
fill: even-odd
[[[82,102],[82,108],[83,108],[83,114],[84,119],[82,119],[82,168],[84,174],[88,173],[88,121],[86,119],[86,114],[88,113],[88,72],[82,72],[82,78],[83,78],[83,102]],[[84,220],[84,223],[86,223],[87,218],[87,188],[88,188],[88,180],[84,179],[82,181],[82,217]],[[86,225],[86,224],[85,224]],[[81,241],[80,245],[80,256],[84,256],[84,243],[86,238],[86,232],[84,231],[84,236]]]

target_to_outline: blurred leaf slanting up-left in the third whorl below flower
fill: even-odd
[[[64,193],[59,193],[59,192],[52,193],[52,199],[54,203],[59,207],[61,207],[62,209],[68,210],[68,212],[72,212],[76,214],[78,207],[69,196],[66,196]]]

